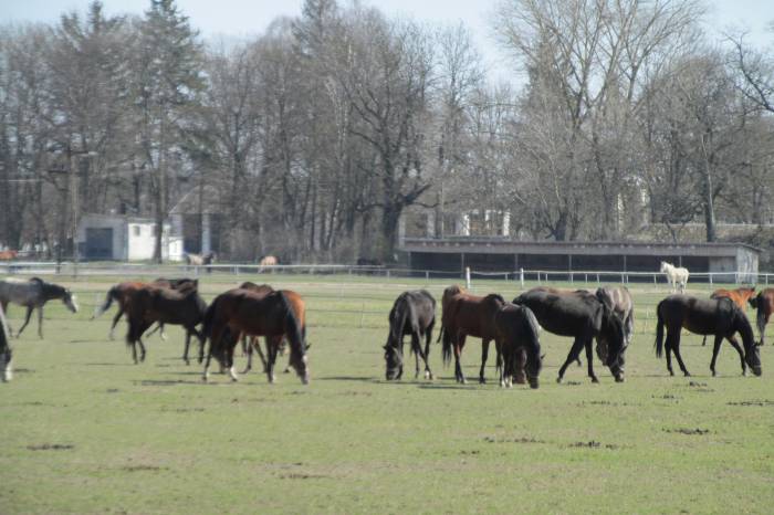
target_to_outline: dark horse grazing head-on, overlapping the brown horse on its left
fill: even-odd
[[[532,309],[510,303],[503,305],[494,314],[494,330],[503,357],[500,386],[511,388],[514,377],[517,383],[524,383],[526,370],[530,388],[538,388],[543,357],[538,339],[540,325]]]

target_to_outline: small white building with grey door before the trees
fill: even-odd
[[[156,222],[149,218],[116,214],[85,214],[77,229],[77,246],[83,260],[151,260],[156,245]],[[182,235],[171,233],[164,224],[161,237],[164,260],[182,260]]]

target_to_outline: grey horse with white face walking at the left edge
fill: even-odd
[[[0,281],[0,306],[8,313],[8,304],[14,303],[27,307],[24,324],[17,333],[21,336],[27,325],[30,323],[32,312],[38,309],[38,335],[43,337],[43,306],[49,301],[61,298],[67,309],[77,313],[79,306],[75,295],[70,290],[59,284],[48,283],[40,277],[31,277],[28,281],[7,278]],[[11,332],[9,330],[9,334]]]

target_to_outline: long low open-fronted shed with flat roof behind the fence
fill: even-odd
[[[416,271],[656,272],[660,262],[691,272],[739,273],[751,281],[761,250],[743,243],[527,242],[505,238],[404,240],[400,250]]]

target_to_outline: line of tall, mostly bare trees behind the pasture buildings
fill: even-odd
[[[161,221],[191,191],[237,260],[389,259],[407,213],[435,234],[509,213],[556,240],[770,223],[774,63],[711,44],[704,8],[502,0],[521,88],[488,78],[463,24],[335,0],[231,44],[172,0],[4,27],[0,244],[72,253],[83,213]]]

